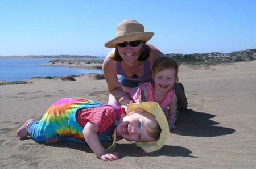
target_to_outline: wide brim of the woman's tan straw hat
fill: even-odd
[[[115,37],[114,39],[107,41],[105,43],[105,47],[107,48],[115,48],[115,45],[118,43],[123,43],[125,41],[148,41],[154,35],[153,32],[134,32],[127,33],[126,35]]]

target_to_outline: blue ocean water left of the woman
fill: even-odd
[[[50,60],[48,58],[0,59],[0,81],[25,81],[32,77],[102,73],[101,69],[42,65]]]

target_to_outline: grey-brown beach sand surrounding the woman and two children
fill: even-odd
[[[56,100],[85,97],[106,103],[105,80],[36,79],[0,86],[1,168],[256,168],[256,61],[210,67],[180,66],[189,110],[159,151],[143,154],[119,141],[119,160],[103,162],[74,142],[39,144],[16,130]],[[108,145],[107,145],[108,146]]]

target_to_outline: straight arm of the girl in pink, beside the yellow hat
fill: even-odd
[[[169,108],[169,115],[168,115],[168,123],[169,129],[176,129],[177,127],[174,125],[176,121],[176,113],[177,113],[177,96],[174,94],[172,98],[172,102]]]

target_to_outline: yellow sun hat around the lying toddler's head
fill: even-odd
[[[127,104],[127,113],[133,112],[138,108],[142,108],[154,115],[162,131],[158,140],[152,142],[137,142],[136,145],[141,147],[144,151],[146,151],[146,153],[159,150],[161,147],[163,147],[169,135],[169,125],[166,116],[164,115],[160,105],[156,102]]]

